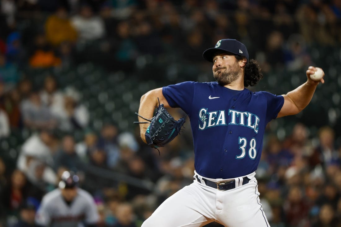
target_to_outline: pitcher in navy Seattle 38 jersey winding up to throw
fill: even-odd
[[[265,127],[304,109],[324,79],[310,78],[317,68],[309,66],[307,81],[287,94],[251,92],[247,87],[263,75],[245,45],[219,40],[203,57],[212,62],[216,82],[182,82],[141,97],[142,140],[154,148],[172,140],[184,119],[174,120],[165,107],[180,107],[190,119],[195,153],[194,182],[166,199],[142,227],[269,227],[255,178]]]

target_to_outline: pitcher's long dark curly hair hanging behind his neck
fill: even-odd
[[[239,55],[235,55],[235,57],[238,61],[245,58]],[[258,62],[254,59],[247,61],[244,66],[244,87],[255,86],[262,78],[263,73]]]

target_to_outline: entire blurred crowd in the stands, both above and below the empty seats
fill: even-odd
[[[91,61],[138,73],[151,57],[202,67],[204,49],[233,38],[265,73],[295,71],[312,63],[309,47],[341,42],[338,0],[0,0],[0,13],[0,139],[29,132],[14,166],[0,153],[0,226],[10,227],[34,226],[42,196],[64,170],[76,172],[93,195],[98,225],[114,227],[139,227],[194,175],[188,123],[159,156],[132,125],[94,130],[83,91],[60,87],[52,71],[37,85],[26,69]],[[311,135],[309,125],[297,123],[283,139],[269,124],[256,177],[272,227],[341,226],[335,133],[326,125]]]

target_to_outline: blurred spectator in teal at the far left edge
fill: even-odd
[[[6,61],[6,56],[0,52],[0,79],[6,85],[16,85],[19,81],[18,68]]]

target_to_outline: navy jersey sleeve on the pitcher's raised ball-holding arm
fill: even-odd
[[[266,122],[270,122],[272,119],[277,118],[279,111],[284,104],[284,97],[282,95],[274,95],[269,92],[262,92],[266,97]]]

